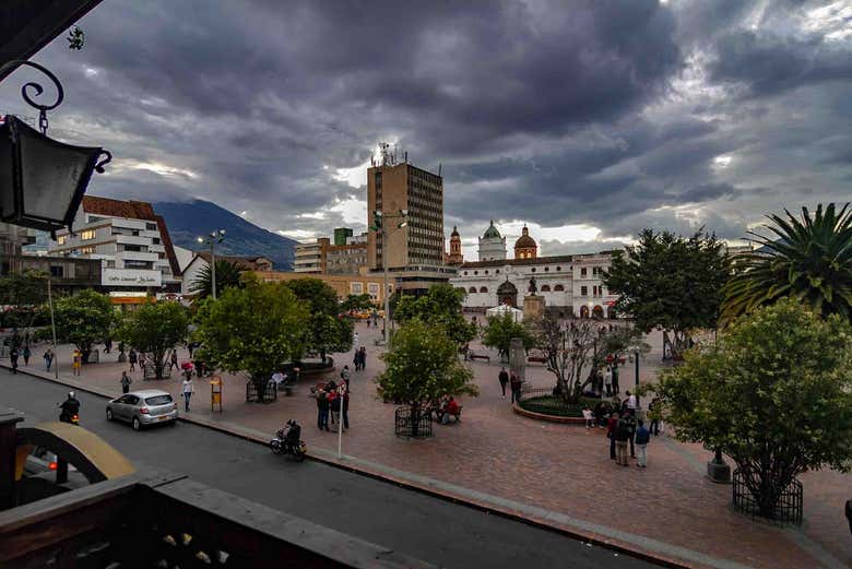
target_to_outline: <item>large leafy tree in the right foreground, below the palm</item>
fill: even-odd
[[[678,439],[720,449],[771,518],[802,472],[852,465],[852,328],[791,299],[691,349],[655,391]]]

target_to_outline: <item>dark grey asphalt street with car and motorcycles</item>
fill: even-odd
[[[26,424],[55,420],[68,389],[0,370],[0,406],[26,413]],[[443,567],[639,568],[647,561],[489,515],[366,476],[306,461],[210,429],[178,424],[133,431],[105,417],[106,400],[79,393],[81,426],[137,465],[193,479],[315,523]],[[312,432],[305,432],[310,448]],[[452,465],[448,464],[448,469]],[[522,482],[519,481],[519,484]]]

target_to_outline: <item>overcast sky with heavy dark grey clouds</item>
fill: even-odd
[[[852,197],[849,1],[104,0],[80,26],[33,60],[51,135],[115,156],[91,194],[364,230],[388,141],[442,164],[468,258],[489,218],[557,254]],[[0,109],[33,114],[31,76]]]

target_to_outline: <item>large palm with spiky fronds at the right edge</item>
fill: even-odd
[[[802,217],[769,215],[770,236],[748,232],[759,248],[734,262],[725,285],[721,323],[790,296],[824,316],[852,319],[852,210],[829,203]]]

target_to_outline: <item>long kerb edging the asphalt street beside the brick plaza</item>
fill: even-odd
[[[7,364],[0,364],[0,368],[10,369],[10,370],[12,369],[11,366],[9,366]],[[54,377],[42,376],[40,374],[36,374],[36,372],[29,371],[29,370],[22,370],[21,368],[19,368],[17,371],[19,371],[19,374],[22,374],[22,375],[25,375],[25,376],[29,376],[29,377],[33,377],[33,378],[36,378],[36,379],[40,379],[43,381],[49,381],[51,383],[59,383],[61,386],[73,388],[76,391],[82,391],[84,393],[90,393],[92,395],[97,395],[99,398],[114,399],[114,395],[111,393],[107,393],[107,392],[105,392],[104,390],[100,390],[100,389],[95,389],[95,388],[92,388],[92,387],[88,387],[88,386],[79,386],[79,384],[76,384],[76,382],[71,383],[68,380],[56,379]],[[530,413],[530,412],[525,412],[525,413]],[[523,415],[523,413],[521,413],[521,415]],[[537,414],[533,414],[533,415],[537,415]],[[568,418],[568,417],[566,417],[566,418]],[[189,423],[189,424],[192,424],[192,425],[197,425],[199,427],[209,428],[211,430],[221,432],[223,435],[228,435],[230,437],[236,437],[238,439],[242,439],[242,440],[246,440],[246,441],[249,441],[249,442],[253,442],[256,444],[262,444],[264,447],[268,446],[268,440],[265,438],[261,438],[261,437],[258,437],[257,435],[253,435],[253,434],[250,434],[250,432],[246,432],[246,431],[240,432],[236,428],[227,428],[227,427],[224,427],[224,426],[221,426],[221,425],[216,425],[213,422],[208,422],[208,420],[198,419],[198,418],[190,418],[190,417],[186,417],[186,416],[182,416],[182,415],[178,415],[178,420],[180,420],[182,423]],[[330,454],[333,454],[333,451],[324,451],[324,449],[323,449],[323,452],[329,452]],[[608,549],[608,550],[612,550],[612,552],[616,552],[616,553],[619,553],[619,554],[626,554],[626,555],[629,555],[629,556],[635,557],[637,559],[642,559],[644,561],[658,565],[660,567],[667,567],[667,568],[671,568],[671,569],[695,569],[696,567],[698,567],[698,566],[695,566],[695,565],[686,565],[683,560],[679,560],[679,559],[662,557],[662,556],[658,556],[658,555],[653,555],[653,554],[647,553],[644,550],[634,549],[634,548],[631,548],[631,547],[629,547],[627,545],[624,545],[624,544],[618,543],[618,542],[607,541],[607,538],[597,536],[595,534],[583,533],[583,532],[580,532],[580,531],[577,531],[577,530],[569,530],[569,529],[566,529],[566,527],[561,527],[561,526],[549,524],[549,523],[547,523],[545,521],[540,521],[540,520],[534,519],[534,518],[528,518],[528,517],[519,514],[519,513],[517,513],[517,512],[514,512],[512,510],[500,508],[500,507],[494,506],[492,503],[477,501],[477,500],[474,500],[474,499],[471,499],[471,498],[460,497],[460,496],[457,496],[457,495],[451,494],[451,493],[441,491],[441,490],[436,489],[436,488],[430,488],[430,487],[425,486],[425,485],[415,484],[415,483],[412,483],[412,482],[403,479],[403,478],[398,478],[398,477],[391,476],[391,475],[389,475],[387,473],[382,473],[382,472],[378,472],[378,471],[374,471],[374,470],[367,470],[367,469],[365,469],[363,466],[356,466],[354,464],[346,464],[344,462],[345,459],[343,459],[341,461],[341,460],[336,460],[336,459],[332,459],[332,458],[320,457],[320,455],[318,455],[316,453],[308,453],[307,458],[312,460],[312,461],[315,461],[315,462],[319,462],[319,463],[322,463],[322,464],[326,464],[326,465],[329,465],[329,466],[332,466],[332,467],[335,467],[335,469],[344,470],[344,471],[347,471],[347,472],[351,472],[351,473],[354,473],[354,474],[358,474],[358,475],[362,475],[362,476],[367,476],[369,478],[374,478],[374,479],[377,479],[377,481],[380,481],[380,482],[390,483],[390,484],[393,484],[393,485],[395,485],[398,487],[405,488],[405,489],[412,490],[412,491],[416,491],[416,493],[419,493],[419,494],[423,494],[423,495],[426,495],[426,496],[429,496],[429,497],[433,497],[433,498],[438,498],[438,499],[443,500],[443,501],[458,503],[458,505],[461,505],[461,506],[465,506],[468,508],[473,508],[475,510],[478,510],[478,511],[482,511],[482,512],[485,512],[485,513],[488,513],[488,514],[499,515],[500,518],[505,518],[505,519],[512,520],[512,521],[516,521],[516,522],[520,522],[520,523],[523,523],[523,524],[526,524],[526,525],[531,525],[531,526],[537,527],[540,530],[554,532],[554,533],[564,535],[566,537],[570,537],[572,540],[580,541],[580,542],[582,542],[584,544],[591,544],[591,545],[595,545],[595,546],[599,546],[599,547],[602,547],[602,548],[605,548],[605,549]]]

